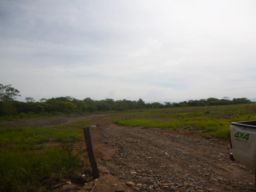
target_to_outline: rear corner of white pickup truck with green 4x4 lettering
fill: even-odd
[[[230,159],[256,173],[256,121],[231,123],[230,147]]]

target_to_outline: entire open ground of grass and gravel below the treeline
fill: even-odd
[[[88,164],[82,128],[92,125],[101,170],[94,192],[133,191],[129,187],[163,192],[254,191],[253,173],[228,158],[226,138],[230,122],[255,119],[256,104],[239,104],[0,122],[0,191],[88,191],[83,185],[90,185],[90,180],[81,179]],[[66,184],[68,180],[72,185]],[[128,181],[135,186],[123,185]],[[64,184],[53,187],[59,183]]]

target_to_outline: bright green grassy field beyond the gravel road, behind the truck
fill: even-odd
[[[209,131],[203,136],[228,138],[231,122],[256,119],[256,104],[143,109],[116,114],[112,118],[121,126],[203,129]]]

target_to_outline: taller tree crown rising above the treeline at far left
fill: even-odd
[[[16,99],[15,96],[19,95],[19,91],[11,87],[12,85],[0,84],[0,101],[6,102]]]

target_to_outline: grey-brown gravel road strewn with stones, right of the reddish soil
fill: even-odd
[[[254,174],[229,159],[227,142],[170,135],[156,128],[101,129],[101,140],[118,148],[101,164],[135,191],[255,191]]]

